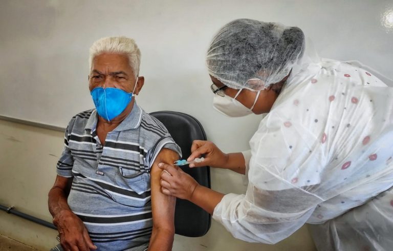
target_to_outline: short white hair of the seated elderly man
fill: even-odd
[[[89,67],[92,70],[93,60],[103,53],[122,54],[128,57],[129,65],[133,69],[135,76],[139,75],[141,64],[141,51],[135,40],[125,36],[102,37],[95,41],[89,51]]]

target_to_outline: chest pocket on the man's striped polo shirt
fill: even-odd
[[[119,193],[115,201],[124,205],[143,207],[150,201],[150,174],[118,167],[115,177]]]

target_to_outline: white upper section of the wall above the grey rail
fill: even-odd
[[[298,26],[321,56],[358,59],[393,78],[393,28],[383,25],[389,11],[391,0],[5,0],[0,115],[65,127],[93,106],[87,85],[90,45],[103,36],[126,35],[142,51],[146,81],[138,101],[147,112],[189,113],[223,145],[229,143],[221,141],[223,135],[243,128],[238,136],[246,139],[245,147],[251,133],[243,131],[253,131],[258,117],[233,123],[211,109],[204,57],[220,27],[244,17]],[[221,134],[214,130],[217,124]]]

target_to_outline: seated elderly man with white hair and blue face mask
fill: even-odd
[[[64,250],[172,247],[176,199],[161,193],[158,163],[173,163],[181,150],[135,101],[144,83],[139,65],[133,39],[105,37],[90,48],[96,109],[71,119],[49,192]]]

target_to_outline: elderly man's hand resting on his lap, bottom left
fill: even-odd
[[[61,211],[53,219],[53,223],[59,231],[60,244],[64,250],[89,251],[97,249],[83,222],[71,211]]]

